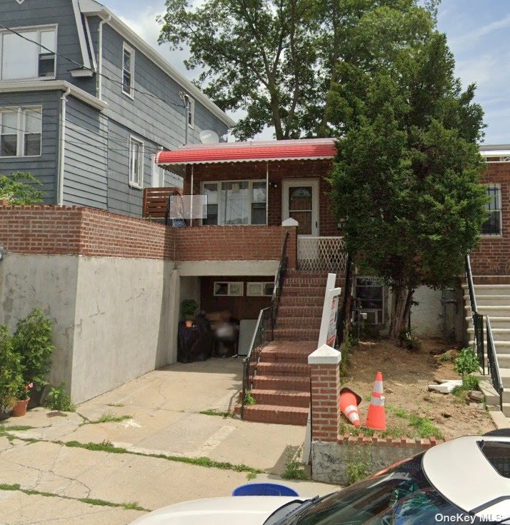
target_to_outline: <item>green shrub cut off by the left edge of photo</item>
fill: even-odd
[[[12,348],[6,326],[0,326],[0,411],[12,409],[24,386],[21,358]]]

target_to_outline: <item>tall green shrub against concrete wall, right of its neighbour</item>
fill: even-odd
[[[39,309],[21,319],[12,337],[14,351],[21,357],[24,383],[33,383],[36,390],[48,384],[46,376],[51,366],[51,354],[55,349],[51,342],[51,319]]]

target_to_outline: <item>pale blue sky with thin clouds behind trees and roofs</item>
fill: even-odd
[[[168,45],[157,44],[156,16],[164,12],[164,0],[101,3],[156,47],[176,69],[189,79],[196,78],[196,71],[186,71],[182,64],[186,51],[169,51]],[[462,84],[476,82],[475,100],[484,108],[487,124],[484,143],[510,144],[510,0],[443,0],[439,29],[446,33]],[[236,119],[239,114],[231,116]],[[271,130],[256,138],[271,139]]]

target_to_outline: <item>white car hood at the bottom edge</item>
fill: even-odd
[[[198,499],[158,509],[131,525],[262,525],[276,509],[301,498],[236,496]]]

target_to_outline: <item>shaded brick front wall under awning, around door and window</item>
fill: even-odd
[[[269,226],[281,224],[281,188],[283,179],[319,178],[319,235],[341,235],[329,197],[330,186],[325,177],[331,171],[331,160],[319,161],[272,161],[269,162]],[[193,169],[193,193],[201,192],[202,182],[266,180],[265,162],[237,162],[232,164],[199,164]],[[276,184],[276,188],[274,188]],[[184,193],[191,190],[191,168],[184,177]]]

